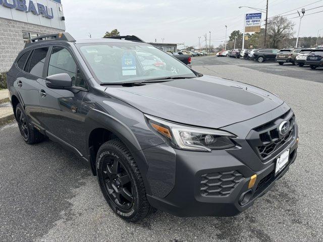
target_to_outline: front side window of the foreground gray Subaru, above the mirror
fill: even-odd
[[[73,86],[87,88],[83,75],[77,68],[70,51],[63,47],[53,47],[49,58],[47,76],[62,73],[70,75]]]

